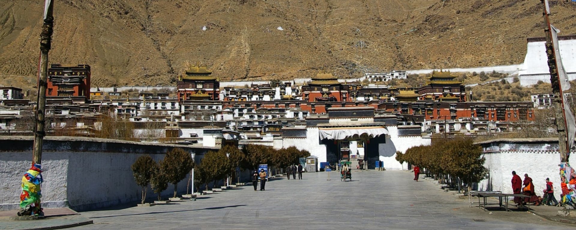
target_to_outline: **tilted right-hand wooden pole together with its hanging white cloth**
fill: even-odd
[[[548,67],[550,68],[550,82],[552,83],[552,92],[554,92],[554,109],[556,112],[556,126],[558,129],[558,144],[560,152],[560,163],[568,162],[570,150],[574,146],[574,135],[576,126],[574,116],[570,107],[566,105],[566,96],[563,91],[570,89],[568,76],[560,59],[560,50],[558,47],[558,29],[550,24],[550,6],[548,0],[541,0],[544,3],[544,25],[546,28],[546,55],[548,56]]]

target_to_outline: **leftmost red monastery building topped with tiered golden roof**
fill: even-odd
[[[176,94],[180,101],[218,101],[220,97],[220,82],[211,74],[212,71],[196,64],[195,67],[190,68],[190,70],[180,76],[179,81],[176,83]]]

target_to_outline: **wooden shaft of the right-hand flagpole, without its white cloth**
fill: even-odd
[[[568,142],[573,140],[567,140],[566,135],[566,118],[564,118],[564,104],[562,101],[562,88],[560,87],[560,81],[558,78],[558,60],[556,60],[556,53],[554,49],[554,44],[552,43],[552,26],[550,25],[550,18],[548,17],[547,4],[546,1],[541,0],[544,5],[544,24],[546,28],[544,32],[546,34],[546,55],[548,56],[548,68],[550,68],[550,82],[552,83],[552,92],[554,93],[554,112],[556,114],[556,126],[558,130],[558,144],[560,152],[560,163],[568,162],[567,152],[568,152]]]

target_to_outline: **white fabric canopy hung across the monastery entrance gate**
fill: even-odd
[[[362,134],[368,135],[370,138],[377,137],[383,134],[388,134],[388,130],[384,127],[340,127],[340,128],[319,128],[320,140],[333,139],[344,140],[355,135]]]

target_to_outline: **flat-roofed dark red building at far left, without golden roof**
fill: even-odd
[[[88,95],[90,95],[90,66],[50,65],[47,97],[88,97]]]

